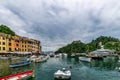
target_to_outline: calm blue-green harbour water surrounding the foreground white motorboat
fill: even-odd
[[[111,63],[111,61],[110,61]],[[31,63],[29,66],[10,68],[12,73],[34,69],[34,80],[54,80],[54,72],[72,66],[71,80],[120,80],[120,72],[115,70],[116,64],[93,61],[90,63],[79,62],[78,59],[50,58],[44,63]]]

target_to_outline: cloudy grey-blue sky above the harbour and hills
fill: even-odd
[[[0,24],[57,50],[101,35],[120,39],[119,0],[0,0]]]

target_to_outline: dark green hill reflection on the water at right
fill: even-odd
[[[80,62],[82,65],[95,68],[95,69],[106,69],[114,70],[119,66],[117,57],[107,57],[101,60],[92,59],[90,63]]]

